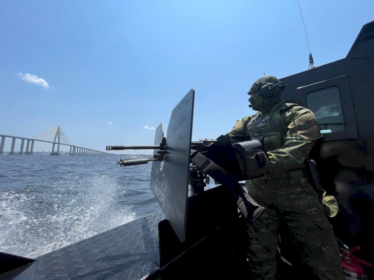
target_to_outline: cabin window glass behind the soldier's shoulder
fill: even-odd
[[[345,122],[339,88],[328,87],[307,94],[308,108],[321,126],[321,133],[343,131]]]

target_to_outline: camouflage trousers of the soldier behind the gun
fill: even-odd
[[[291,249],[296,260],[306,267],[306,274],[320,280],[345,279],[333,228],[304,176],[286,175],[275,180],[260,177],[246,181],[245,186],[252,198],[265,207],[253,224],[247,224],[247,258],[253,279],[276,279],[280,232],[281,240],[285,234],[290,241],[292,248],[287,250]]]

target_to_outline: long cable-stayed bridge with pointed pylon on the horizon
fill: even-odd
[[[10,151],[8,152],[9,154],[32,154],[35,142],[46,142],[52,143],[52,151],[50,152],[50,155],[60,155],[61,145],[68,146],[70,148],[69,155],[111,155],[111,153],[108,152],[73,145],[63,133],[60,126],[57,126],[57,128],[39,135],[36,139],[2,134],[0,134],[0,137],[0,154],[4,153],[5,140],[9,139],[11,140]],[[19,147],[18,145],[16,147],[16,140],[20,140]]]

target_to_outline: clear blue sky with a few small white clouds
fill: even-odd
[[[316,66],[374,20],[373,0],[299,3]],[[153,144],[191,88],[192,140],[215,139],[253,113],[246,92],[264,72],[308,69],[297,0],[3,1],[0,27],[0,134],[59,125],[97,150]]]

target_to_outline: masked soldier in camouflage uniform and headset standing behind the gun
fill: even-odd
[[[293,255],[315,279],[344,280],[333,228],[303,170],[313,144],[322,137],[319,125],[310,110],[283,101],[285,85],[274,87],[269,95],[266,86],[278,83],[274,76],[255,81],[248,92],[249,107],[258,113],[236,121],[229,133],[260,140],[271,164],[269,173],[245,182],[249,195],[265,207],[264,213],[247,225],[251,277],[276,279],[282,226],[282,233],[286,230],[294,246]]]

